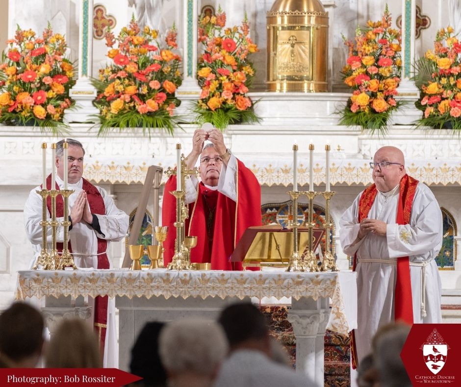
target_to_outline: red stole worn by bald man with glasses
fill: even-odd
[[[399,205],[397,207],[397,224],[409,224],[411,216],[411,207],[413,205],[414,194],[418,180],[409,175],[405,175],[400,180]],[[378,190],[375,184],[366,188],[359,200],[359,222],[368,216],[371,206],[375,201]],[[353,271],[356,271],[357,254],[354,256]],[[397,278],[395,283],[394,296],[394,319],[403,320],[407,324],[413,324],[413,299],[411,296],[411,277],[410,277],[410,258],[397,258]],[[355,337],[352,332],[351,350],[352,365],[357,367],[357,350],[355,348]]]

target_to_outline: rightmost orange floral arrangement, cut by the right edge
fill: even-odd
[[[418,126],[461,130],[461,43],[453,32],[452,27],[437,31],[434,51],[416,62],[420,99],[415,105],[424,111]]]

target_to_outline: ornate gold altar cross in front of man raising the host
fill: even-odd
[[[180,145],[177,144],[177,147]],[[197,168],[188,168],[185,161],[187,159],[184,154],[181,154],[180,168],[181,170],[181,190],[170,191],[170,194],[176,197],[176,222],[173,223],[176,227],[176,241],[175,241],[175,254],[173,255],[172,261],[168,264],[167,269],[169,270],[192,270],[190,264],[190,248],[184,245],[185,240],[185,220],[189,217],[189,209],[184,200],[185,198],[185,176],[197,174]],[[175,170],[168,168],[166,173],[168,175],[177,174]]]

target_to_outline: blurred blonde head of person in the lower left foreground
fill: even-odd
[[[47,368],[100,368],[96,333],[83,320],[63,320],[51,335],[45,359]]]

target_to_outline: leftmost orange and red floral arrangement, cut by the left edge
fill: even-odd
[[[18,26],[7,44],[0,65],[0,122],[49,127],[54,133],[64,129],[75,84],[74,66],[63,57],[64,36],[53,34],[50,24],[42,37]]]

